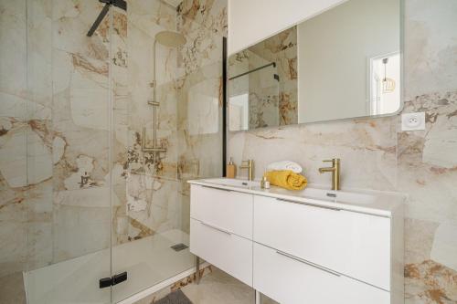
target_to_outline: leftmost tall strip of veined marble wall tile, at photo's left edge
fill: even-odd
[[[5,42],[0,54],[0,277],[4,277],[51,260],[51,21],[47,0],[3,1],[0,6],[0,39]],[[40,71],[46,75],[40,76]]]

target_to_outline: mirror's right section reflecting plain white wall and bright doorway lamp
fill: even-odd
[[[399,9],[399,0],[349,0],[298,26],[299,122],[399,110]],[[382,89],[385,78],[396,88]]]

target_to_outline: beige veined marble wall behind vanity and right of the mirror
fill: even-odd
[[[292,160],[311,183],[322,160],[342,159],[344,187],[409,194],[406,303],[457,303],[457,2],[406,0],[403,112],[425,111],[425,131],[400,131],[399,116],[330,121],[229,135],[228,156]]]

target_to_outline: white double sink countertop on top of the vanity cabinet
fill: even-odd
[[[291,191],[276,186],[271,186],[270,189],[262,189],[260,182],[229,178],[191,180],[188,183],[387,217],[392,217],[393,213],[402,207],[407,198],[407,195],[395,192],[360,189],[333,191],[314,184],[310,184],[302,191]],[[282,201],[278,202],[281,203]]]

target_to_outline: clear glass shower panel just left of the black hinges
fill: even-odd
[[[99,1],[2,2],[27,13],[28,303],[111,303],[110,17],[87,37]]]

